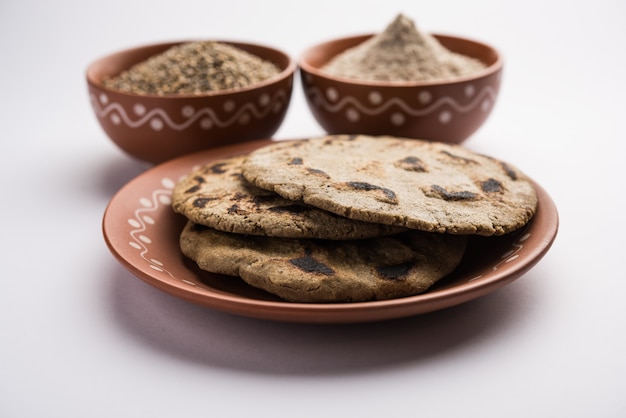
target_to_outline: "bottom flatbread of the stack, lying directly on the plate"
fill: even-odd
[[[230,234],[188,222],[183,254],[291,302],[358,302],[423,293],[452,272],[467,237],[408,231],[364,240]]]

